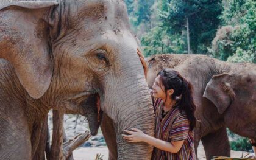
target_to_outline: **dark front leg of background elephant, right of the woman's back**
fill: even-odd
[[[213,156],[230,156],[230,145],[226,127],[219,128],[214,133],[207,134],[201,139],[207,159]]]

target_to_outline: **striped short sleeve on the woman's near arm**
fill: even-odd
[[[190,131],[190,123],[188,122],[187,117],[179,114],[174,120],[169,138],[171,141],[182,141],[187,139],[188,132]]]

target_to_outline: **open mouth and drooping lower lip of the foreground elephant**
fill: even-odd
[[[87,117],[91,134],[96,135],[98,133],[99,126],[101,125],[103,114],[99,94],[94,92],[82,92],[68,100],[76,103],[82,108],[82,116]]]

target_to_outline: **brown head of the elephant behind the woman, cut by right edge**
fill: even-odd
[[[252,70],[243,68],[243,71],[213,76],[204,97],[224,114],[224,122],[231,131],[256,139],[256,74]]]

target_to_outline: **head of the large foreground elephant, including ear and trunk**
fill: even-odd
[[[115,125],[118,158],[149,159],[152,146],[121,138],[131,127],[154,136],[151,97],[124,2],[7,2],[0,8],[0,58],[12,64],[27,95],[63,113],[84,115],[84,103],[100,106]]]

